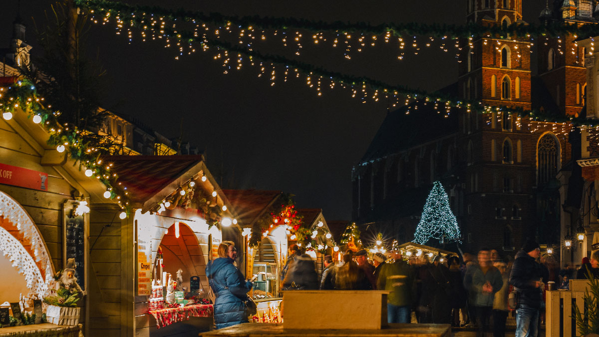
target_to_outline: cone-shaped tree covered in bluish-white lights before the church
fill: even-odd
[[[449,207],[447,193],[443,185],[435,181],[416,227],[414,242],[424,245],[430,239],[437,239],[440,243],[449,243],[458,241],[460,236],[458,221]]]

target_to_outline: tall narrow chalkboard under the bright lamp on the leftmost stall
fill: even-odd
[[[83,215],[65,217],[65,261],[75,259],[75,277],[81,289],[85,290],[85,233]]]

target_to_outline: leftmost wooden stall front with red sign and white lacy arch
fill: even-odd
[[[48,145],[50,134],[37,119],[20,109],[13,112],[0,118],[0,324],[38,333],[56,327],[38,325],[47,314],[43,300],[56,290],[56,273],[73,259],[68,267],[81,291],[66,305],[82,308],[71,310],[77,312],[75,326],[65,335],[77,335],[77,323],[87,332],[89,299],[78,298],[88,293],[89,203],[100,197],[92,187],[99,184]]]

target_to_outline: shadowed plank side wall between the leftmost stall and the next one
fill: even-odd
[[[90,209],[90,336],[133,336],[132,220],[121,220],[114,204]]]

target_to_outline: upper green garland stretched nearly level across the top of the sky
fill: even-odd
[[[222,13],[205,14],[199,11],[189,11],[180,8],[168,10],[164,7],[128,5],[118,1],[108,0],[75,0],[75,5],[89,10],[120,13],[131,13],[136,17],[160,17],[169,21],[184,21],[194,23],[211,23],[214,25],[227,25],[232,23],[243,28],[253,27],[260,29],[302,29],[311,32],[360,32],[368,35],[394,36],[425,35],[429,37],[469,38],[474,36],[517,36],[517,37],[559,37],[566,34],[577,36],[599,35],[598,25],[576,25],[570,23],[550,22],[546,25],[528,25],[513,23],[507,27],[500,25],[482,26],[476,23],[466,25],[446,25],[433,23],[409,22],[409,23],[382,23],[370,25],[370,23],[346,23],[341,21],[322,22],[317,20],[296,19],[293,17],[261,17],[261,16],[229,16]]]

